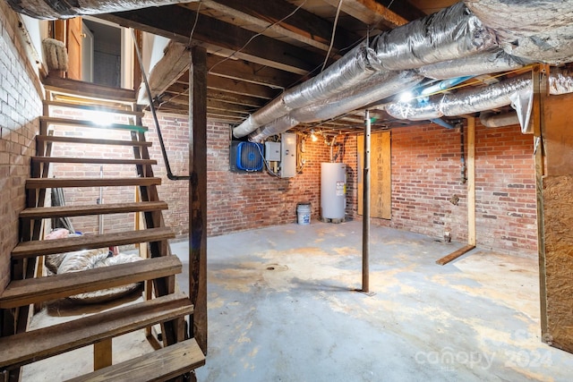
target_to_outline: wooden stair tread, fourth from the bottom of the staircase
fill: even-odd
[[[85,234],[58,240],[34,240],[19,243],[12,251],[12,259],[53,255],[55,253],[64,253],[73,250],[105,248],[116,245],[134,244],[137,242],[158,242],[160,240],[174,238],[175,233],[173,230],[167,227],[158,227],[120,233]]]

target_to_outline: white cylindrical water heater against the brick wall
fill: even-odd
[[[344,219],[346,208],[346,165],[321,164],[321,216]]]

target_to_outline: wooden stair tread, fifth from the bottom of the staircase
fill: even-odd
[[[167,209],[165,201],[140,201],[132,203],[88,204],[81,206],[57,206],[26,208],[21,211],[23,219],[55,218],[64,216],[86,216],[122,214],[127,212],[157,211]]]

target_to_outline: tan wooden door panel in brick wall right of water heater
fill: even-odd
[[[364,136],[358,136],[358,215],[363,214]],[[370,149],[370,216],[389,219],[392,216],[392,178],[390,132],[371,135]]]

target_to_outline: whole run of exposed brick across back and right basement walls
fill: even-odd
[[[173,174],[188,174],[187,117],[159,115],[163,138]],[[188,183],[167,179],[152,120],[148,140],[153,141],[151,157],[158,159],[156,176],[163,178],[159,196],[169,204],[164,212],[167,225],[178,237],[188,233]],[[466,184],[461,183],[460,132],[436,125],[394,129],[391,138],[392,218],[373,219],[374,224],[423,233],[441,239],[444,231],[452,240],[467,240]],[[208,125],[208,234],[218,235],[281,225],[296,221],[296,204],[312,203],[312,218],[320,217],[321,162],[329,161],[324,140],[304,143],[305,166],[292,179],[267,173],[229,171],[230,127]],[[299,148],[302,137],[298,137]],[[346,216],[358,218],[356,187],[356,137],[338,136],[340,154],[347,168]],[[535,254],[535,175],[531,154],[532,138],[517,126],[487,129],[476,127],[476,235],[478,245],[495,250]],[[467,146],[466,146],[467,147]],[[335,147],[334,152],[338,151]],[[126,154],[131,156],[131,152]],[[299,159],[301,159],[299,157]],[[91,169],[98,175],[98,166]],[[110,197],[107,193],[105,199]],[[113,196],[133,198],[133,190]],[[97,199],[97,191],[81,198]],[[453,201],[453,203],[452,203]],[[76,223],[74,222],[74,225]],[[93,221],[92,230],[97,221]],[[133,225],[133,219],[115,225]],[[86,230],[86,228],[82,228]],[[131,229],[131,228],[128,228]]]

